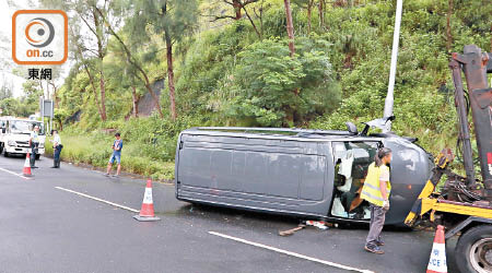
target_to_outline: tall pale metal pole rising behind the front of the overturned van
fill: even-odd
[[[400,39],[400,23],[401,23],[401,10],[403,5],[403,0],[397,1],[397,10],[395,14],[395,32],[393,33],[393,50],[391,50],[391,66],[389,69],[389,82],[388,82],[388,94],[385,100],[385,114],[384,117],[393,116],[393,104],[394,104],[394,88],[395,88],[395,74],[396,64],[398,59],[398,45]],[[383,132],[391,131],[391,121],[386,123],[385,130]]]

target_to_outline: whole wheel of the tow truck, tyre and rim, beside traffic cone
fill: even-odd
[[[492,225],[476,226],[462,234],[455,257],[461,273],[492,272]]]

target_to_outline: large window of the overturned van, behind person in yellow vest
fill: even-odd
[[[331,215],[370,219],[368,203],[360,198],[378,142],[333,142],[335,182]]]

